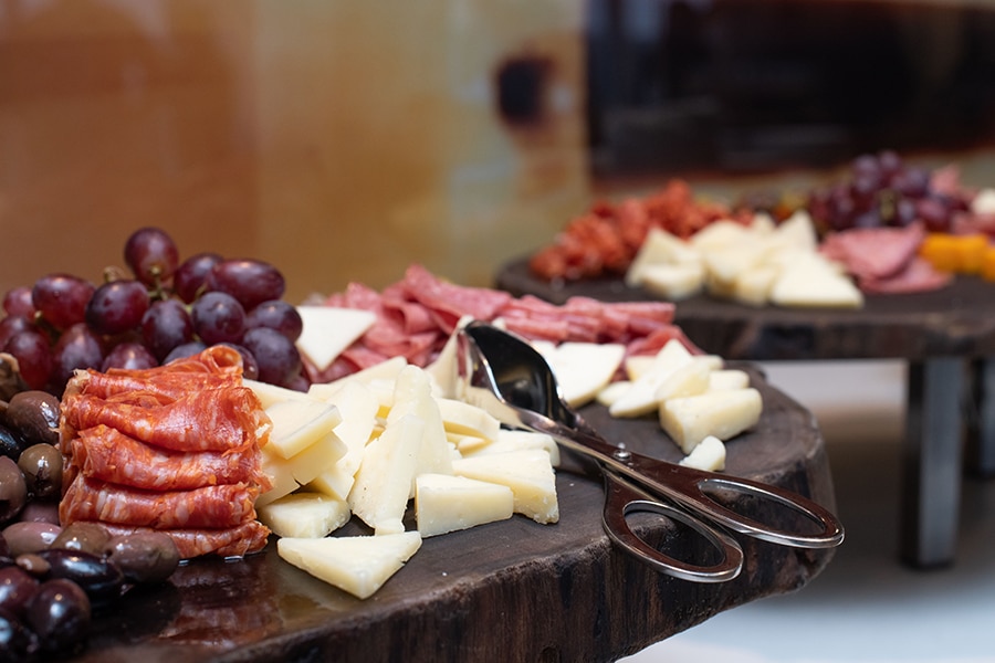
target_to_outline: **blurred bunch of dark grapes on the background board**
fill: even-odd
[[[954,218],[970,208],[970,199],[938,189],[928,169],[883,150],[857,157],[841,181],[811,191],[807,207],[826,232],[902,228],[917,221],[930,232],[950,232]]]

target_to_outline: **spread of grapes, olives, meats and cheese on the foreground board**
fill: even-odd
[[[748,375],[695,347],[668,302],[553,305],[412,264],[381,292],[292,306],[272,265],[180,262],[157,229],[125,260],[132,273],[101,285],[50,274],[3,299],[0,575],[23,587],[0,593],[11,660],[77,651],[92,610],[271,535],[282,559],[367,598],[426,537],[557,523],[556,442],[461,399],[470,320],[532,343],[572,406],[654,414],[695,467],[721,471],[762,412]],[[367,534],[339,535],[348,522]]]

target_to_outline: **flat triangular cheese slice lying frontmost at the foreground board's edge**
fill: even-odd
[[[276,540],[283,560],[360,599],[380,589],[420,547],[418,532]]]

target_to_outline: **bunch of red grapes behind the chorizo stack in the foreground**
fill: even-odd
[[[6,293],[0,350],[29,388],[61,396],[76,369],[151,368],[228,344],[244,377],[306,389],[295,345],[303,323],[273,265],[217,253],[180,262],[157,228],[135,231],[124,260],[128,271],[107,270],[101,284],[49,274]]]

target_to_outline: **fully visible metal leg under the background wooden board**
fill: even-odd
[[[909,364],[901,556],[918,568],[953,562],[960,513],[964,364]]]

